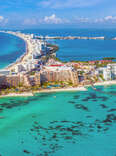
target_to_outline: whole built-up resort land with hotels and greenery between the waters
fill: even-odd
[[[25,53],[16,62],[0,70],[1,94],[16,91],[75,90],[77,87],[85,90],[87,85],[116,79],[116,63],[113,58],[61,62],[56,58],[58,47],[49,44],[44,38],[21,32],[1,32],[23,39],[26,45]]]

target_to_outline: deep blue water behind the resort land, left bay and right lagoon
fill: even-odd
[[[107,40],[48,40],[59,46],[56,56],[61,61],[101,60],[104,57],[116,57],[116,29],[33,29],[24,33],[49,36],[105,36]],[[16,61],[25,52],[22,39],[0,33],[0,69]]]

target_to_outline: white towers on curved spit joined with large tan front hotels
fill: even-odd
[[[23,56],[7,68],[0,70],[1,87],[18,87],[22,85],[30,87],[54,81],[71,82],[73,85],[78,84],[78,75],[72,66],[64,66],[54,60],[50,64],[43,64],[42,57],[49,54],[51,50],[45,41],[34,39],[32,34],[26,35],[11,31],[5,33],[22,38],[27,46]],[[33,70],[35,74],[31,75],[30,73]]]

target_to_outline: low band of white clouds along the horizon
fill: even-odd
[[[4,18],[0,16],[0,21],[3,21]],[[38,26],[45,24],[115,24],[116,16],[106,16],[101,18],[90,18],[90,17],[75,17],[71,21],[65,18],[57,17],[56,14],[50,16],[45,16],[43,18],[26,18],[22,25],[26,26]]]

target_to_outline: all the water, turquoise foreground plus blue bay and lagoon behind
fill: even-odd
[[[62,31],[25,30],[23,32],[38,35],[44,33],[45,35],[56,35],[55,33],[73,35],[74,33],[84,36],[103,36],[103,34],[108,37],[116,36],[115,30],[91,30],[90,32],[89,30],[64,30],[64,34]],[[9,38],[9,35],[6,38],[4,38],[6,34],[0,35],[3,35],[3,38],[0,36],[1,40],[7,41]],[[52,41],[59,45],[57,56],[62,60],[116,56],[115,42],[109,40]],[[14,36],[10,36],[9,42],[3,43],[0,46],[3,47],[0,57],[4,56],[0,61],[1,67],[22,55],[25,45],[21,39]],[[0,98],[0,155],[116,156],[116,85],[97,88],[100,92],[90,87],[87,91]]]

